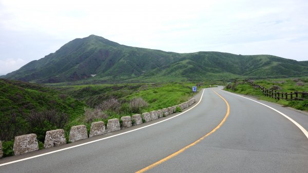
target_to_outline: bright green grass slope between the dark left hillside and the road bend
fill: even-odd
[[[158,110],[185,102],[192,97],[191,88],[195,85],[193,83],[101,84],[58,86],[56,89],[71,95],[75,99],[84,101],[89,107],[92,107],[92,112],[101,113],[90,118],[91,122],[104,121],[107,124],[109,119],[120,119],[124,116],[132,116],[136,113]],[[141,106],[137,110],[132,109],[130,101],[134,98],[142,98],[147,103],[147,106]],[[104,108],[109,105],[108,102],[113,102],[113,106]],[[98,107],[100,109],[95,110]],[[88,122],[88,114],[85,113],[84,116],[78,117],[67,124],[65,127],[67,137],[70,127],[74,125],[85,124],[88,131],[90,130],[91,122]]]

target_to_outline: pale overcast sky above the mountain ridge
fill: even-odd
[[[272,54],[308,61],[308,1],[0,0],[0,74],[91,34],[179,53]]]

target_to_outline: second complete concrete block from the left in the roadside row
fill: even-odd
[[[64,144],[66,144],[66,139],[63,129],[46,131],[44,148],[50,148]]]

